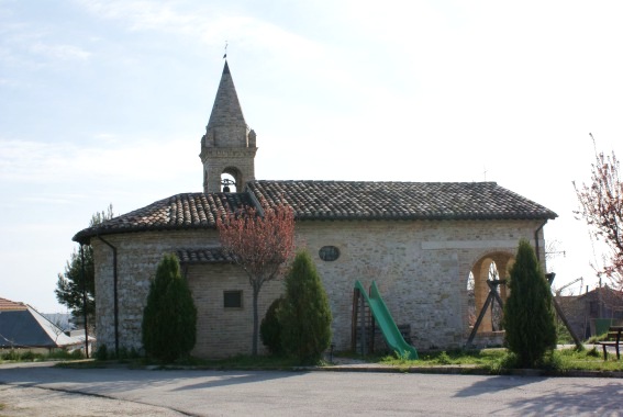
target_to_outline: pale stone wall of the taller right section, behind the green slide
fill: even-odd
[[[467,279],[471,267],[487,253],[514,255],[519,239],[533,241],[538,226],[525,221],[343,222],[340,227],[332,222],[307,222],[297,230],[327,291],[337,350],[351,347],[356,280],[365,288],[377,281],[394,322],[410,324],[413,345],[425,350],[465,343],[470,331]],[[325,245],[340,248],[337,260],[320,259],[319,249]]]

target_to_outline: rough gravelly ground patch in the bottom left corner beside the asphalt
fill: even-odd
[[[156,416],[183,414],[153,405],[31,386],[0,385],[0,417]]]

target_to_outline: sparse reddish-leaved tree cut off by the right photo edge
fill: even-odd
[[[591,235],[609,249],[603,256],[603,264],[593,266],[598,274],[610,278],[616,289],[623,290],[623,182],[619,159],[614,151],[609,156],[598,153],[597,146],[594,157],[591,183],[577,187],[574,182],[580,203],[575,213],[587,222]]]

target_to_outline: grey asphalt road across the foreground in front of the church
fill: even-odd
[[[623,380],[21,363],[0,365],[0,404],[1,416],[623,416]]]

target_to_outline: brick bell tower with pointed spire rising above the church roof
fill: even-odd
[[[237,192],[255,179],[255,132],[249,129],[244,120],[225,60],[210,121],[201,138],[199,157],[203,164],[203,192],[229,191],[227,181],[222,179],[225,173],[233,177]]]

